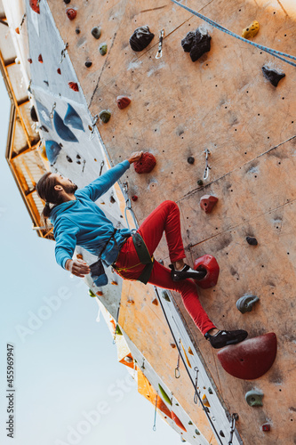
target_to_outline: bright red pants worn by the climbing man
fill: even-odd
[[[140,225],[138,232],[144,239],[151,256],[156,250],[163,233],[165,233],[171,262],[186,257],[180,233],[180,210],[175,202],[164,201],[156,207]],[[140,263],[139,256],[133,246],[132,237],[125,241],[115,265],[118,268],[117,273],[124,279],[138,279],[140,277],[140,273],[145,266]],[[215,328],[199,301],[194,281],[190,279],[172,281],[171,271],[155,261],[148,283],[180,292],[186,310],[203,335],[210,329]]]

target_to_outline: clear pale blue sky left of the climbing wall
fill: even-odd
[[[5,160],[10,101],[0,77],[0,443],[180,443],[138,392],[98,304],[40,239]],[[51,306],[52,305],[52,309]],[[40,316],[43,320],[40,319]],[[7,344],[14,354],[14,439],[7,437]]]

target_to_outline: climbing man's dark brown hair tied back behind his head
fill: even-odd
[[[56,177],[52,176],[52,172],[47,172],[36,184],[36,192],[39,198],[45,201],[45,206],[41,214],[41,219],[47,228],[47,219],[50,217],[52,212],[52,208],[50,204],[53,206],[58,206],[62,200],[60,198],[60,193],[57,190],[54,190],[54,186],[59,184],[59,181]]]

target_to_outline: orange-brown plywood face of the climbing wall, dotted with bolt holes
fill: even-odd
[[[164,199],[175,200],[180,206],[188,263],[211,254],[220,264],[217,286],[200,291],[212,320],[219,328],[245,328],[250,337],[276,334],[276,361],[264,376],[254,380],[230,376],[217,352],[189,319],[180,296],[174,295],[221,403],[228,412],[239,414],[236,427],[245,444],[295,442],[291,388],[296,380],[292,361],[296,69],[223,34],[168,0],[109,0],[100,3],[100,8],[97,3],[82,0],[67,5],[50,0],[48,4],[63,43],[68,43],[79,92],[84,93],[92,117],[103,110],[111,115],[108,123],[100,118],[97,122],[108,158],[116,164],[134,150],[149,151],[156,157],[156,167],[150,174],[139,175],[133,169],[126,174],[129,193],[138,196],[133,208],[139,221]],[[252,42],[296,54],[296,8],[292,1],[184,0],[184,4],[238,35],[258,20],[260,30]],[[41,9],[43,5],[45,2],[40,4]],[[75,15],[68,12],[67,16],[68,8],[76,11],[74,20],[68,19]],[[143,25],[148,25],[155,37],[147,48],[136,53],[129,39],[134,29]],[[193,62],[180,42],[188,31],[199,26],[212,36],[211,50]],[[97,39],[91,31],[98,27],[101,34],[97,29]],[[156,59],[161,29],[163,56]],[[60,51],[61,47],[56,50],[58,58]],[[277,86],[263,76],[263,65],[285,74]],[[125,109],[117,107],[118,95],[131,99]],[[66,97],[74,105],[69,102],[72,97]],[[211,169],[203,180],[206,149],[210,151]],[[193,158],[191,164],[189,157]],[[211,214],[205,214],[199,205],[204,195],[219,199]],[[258,244],[248,244],[246,237],[256,238]],[[160,258],[169,263],[164,243],[156,252],[156,259]],[[259,301],[251,312],[242,313],[236,301],[246,294],[258,296]],[[136,305],[132,310],[126,307],[121,316],[124,324],[132,311],[138,315],[137,323],[125,326],[134,344],[139,341],[138,329],[143,323],[140,311],[148,304],[151,302],[143,297],[138,310]],[[142,329],[142,336],[149,333],[146,347],[150,342],[155,348],[156,333],[145,332],[144,324]],[[160,338],[166,341],[165,336]],[[142,352],[145,355],[148,350]],[[156,352],[152,352],[149,362],[157,369],[162,366]],[[182,388],[187,394],[189,384],[185,382]],[[245,401],[245,394],[254,390],[264,394],[262,406],[250,406]],[[270,431],[265,431],[265,424]],[[207,426],[204,429],[210,442]]]

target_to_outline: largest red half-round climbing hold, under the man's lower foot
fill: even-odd
[[[259,378],[276,359],[276,334],[269,332],[226,346],[218,352],[218,359],[230,376],[244,380]]]

